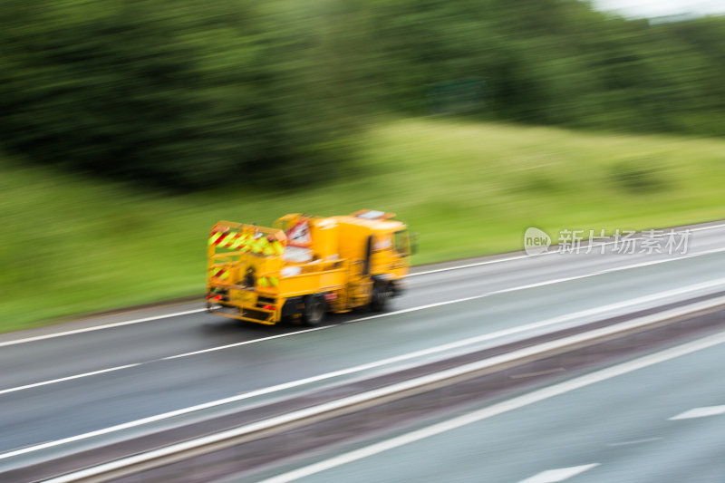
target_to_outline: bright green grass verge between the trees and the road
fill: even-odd
[[[358,173],[289,193],[240,175],[236,189],[165,197],[0,161],[0,331],[201,295],[219,219],[395,211],[419,233],[423,264],[521,249],[530,226],[555,235],[725,217],[725,140],[409,120],[361,144]]]

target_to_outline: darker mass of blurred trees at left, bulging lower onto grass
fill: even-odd
[[[281,5],[4,2],[6,148],[176,187],[328,175],[353,118],[319,52],[322,19]]]

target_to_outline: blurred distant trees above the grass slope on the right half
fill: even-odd
[[[422,86],[480,78],[488,119],[725,135],[725,16],[650,24],[577,0],[373,4],[385,105],[426,113]]]

